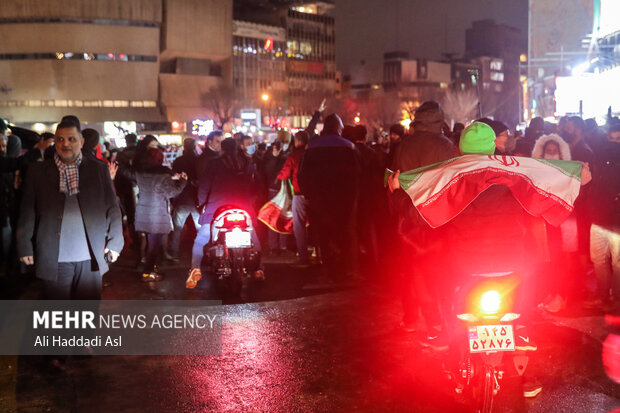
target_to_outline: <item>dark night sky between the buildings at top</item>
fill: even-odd
[[[462,55],[465,30],[475,20],[495,19],[527,36],[528,0],[335,1],[338,68],[353,83],[379,82],[385,52],[436,60]]]

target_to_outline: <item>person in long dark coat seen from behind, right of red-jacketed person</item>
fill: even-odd
[[[298,173],[329,281],[346,281],[356,271],[361,167],[355,145],[341,136],[342,129],[338,115],[325,118],[321,136],[308,145]]]

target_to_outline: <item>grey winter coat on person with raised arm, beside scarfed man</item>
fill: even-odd
[[[181,193],[187,180],[173,180],[166,167],[136,173],[138,205],[135,228],[138,232],[167,234],[172,231],[170,198]]]

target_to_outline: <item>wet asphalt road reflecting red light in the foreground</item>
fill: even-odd
[[[252,299],[225,300],[220,356],[99,356],[70,359],[65,371],[34,357],[0,357],[2,412],[461,412],[441,373],[442,356],[396,326],[398,299],[377,284],[338,291],[301,286],[316,269],[278,260]],[[157,284],[128,262],[111,272],[105,299],[207,299],[185,291],[183,268]],[[543,393],[531,412],[609,412],[620,385],[604,374],[601,314],[541,317]],[[182,345],[182,343],[179,343]]]

